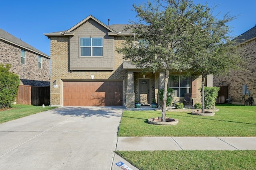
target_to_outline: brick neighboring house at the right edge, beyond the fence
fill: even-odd
[[[256,26],[238,36],[237,41],[245,49],[245,71],[232,71],[228,76],[214,76],[214,86],[228,87],[226,93],[233,104],[244,104],[243,85],[250,96],[256,97]],[[226,99],[226,98],[225,98]],[[253,105],[255,105],[255,99]]]

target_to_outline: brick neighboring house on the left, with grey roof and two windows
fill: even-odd
[[[50,85],[50,57],[0,29],[0,63],[11,64],[10,71],[20,77],[20,85]]]

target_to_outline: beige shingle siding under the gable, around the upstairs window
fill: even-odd
[[[108,36],[108,30],[89,20],[74,31],[70,38],[70,70],[114,70],[114,38]],[[79,57],[79,38],[103,38],[103,57]]]

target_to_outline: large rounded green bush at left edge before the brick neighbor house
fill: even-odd
[[[9,64],[0,63],[0,108],[9,108],[17,97],[20,79],[10,68]]]

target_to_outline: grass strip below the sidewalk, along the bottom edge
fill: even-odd
[[[116,151],[139,170],[255,170],[255,150]]]

